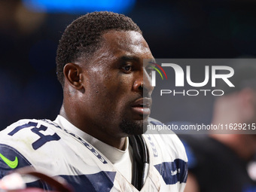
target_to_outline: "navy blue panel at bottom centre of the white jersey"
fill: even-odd
[[[72,185],[76,192],[90,191],[108,192],[114,186],[116,172],[97,172],[87,175],[60,175]]]

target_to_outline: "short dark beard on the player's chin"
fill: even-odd
[[[145,120],[122,120],[119,124],[120,130],[128,136],[142,135],[147,131],[148,118]]]

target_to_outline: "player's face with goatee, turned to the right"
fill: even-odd
[[[142,134],[153,90],[143,59],[154,59],[151,50],[139,32],[110,31],[102,37],[90,61],[80,62],[84,126],[114,137]]]

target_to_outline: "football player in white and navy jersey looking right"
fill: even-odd
[[[93,12],[59,41],[63,103],[56,120],[19,120],[0,133],[0,178],[32,166],[75,191],[183,191],[187,157],[175,134],[145,134],[154,59],[142,31],[123,14]],[[24,178],[27,187],[50,190]]]

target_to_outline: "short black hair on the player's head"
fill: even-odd
[[[59,82],[64,85],[63,67],[75,62],[81,56],[92,55],[102,42],[102,34],[109,30],[136,31],[139,26],[123,14],[96,11],[74,20],[62,34],[56,54],[56,72]]]

